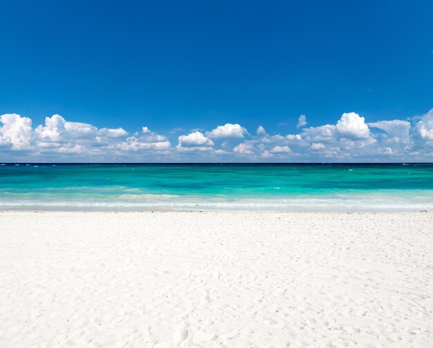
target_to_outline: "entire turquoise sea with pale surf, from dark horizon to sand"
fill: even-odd
[[[433,164],[2,164],[0,209],[433,210]]]

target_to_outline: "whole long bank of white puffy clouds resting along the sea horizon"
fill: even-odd
[[[170,139],[148,126],[129,133],[46,117],[0,116],[1,162],[432,162],[433,109],[407,120],[366,122],[343,113],[335,124],[306,126],[301,115],[296,134],[252,134],[240,124],[191,131]]]

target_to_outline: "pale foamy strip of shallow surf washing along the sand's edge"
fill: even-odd
[[[127,196],[127,195],[124,195]],[[142,195],[140,195],[142,196]],[[0,200],[0,209],[66,211],[421,211],[433,210],[433,200],[396,200],[395,197],[364,199],[298,198],[214,200],[174,195],[123,197],[122,200]],[[174,197],[173,197],[174,196]]]

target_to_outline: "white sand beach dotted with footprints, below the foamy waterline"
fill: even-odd
[[[432,213],[0,212],[0,347],[433,347]]]

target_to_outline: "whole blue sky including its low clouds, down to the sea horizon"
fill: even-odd
[[[2,161],[432,159],[432,1],[2,1],[0,13],[0,115],[20,115],[0,123]],[[368,137],[302,133],[352,112]],[[73,124],[36,131],[57,114]],[[297,128],[300,115],[307,123]],[[409,122],[398,144],[395,124],[393,135],[389,124],[368,125],[394,120]],[[358,121],[347,126],[362,133]],[[79,122],[94,127],[85,144]],[[246,132],[206,135],[225,124]],[[302,144],[263,146],[258,126]],[[95,140],[101,128],[125,133]],[[196,132],[213,145],[192,135],[179,151]],[[142,146],[149,133],[165,138],[167,153]],[[127,150],[130,137],[140,144]],[[255,157],[234,151],[239,144]]]

